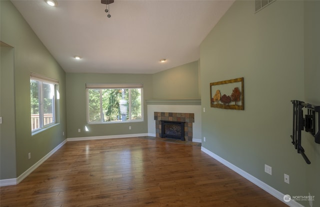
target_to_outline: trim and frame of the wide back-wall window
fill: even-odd
[[[132,89],[140,88],[141,89],[141,119],[138,120],[127,120],[127,121],[102,121],[102,102],[100,100],[100,121],[89,121],[89,89],[112,89],[112,88],[123,88],[123,89]],[[144,121],[144,108],[143,108],[143,83],[85,83],[85,96],[86,96],[86,122],[87,124],[104,124],[104,123],[129,123],[129,122],[143,122]],[[129,96],[131,93],[129,92]],[[100,96],[101,98],[101,96]],[[131,102],[130,102],[131,105]],[[129,113],[131,114],[131,107],[129,107]]]

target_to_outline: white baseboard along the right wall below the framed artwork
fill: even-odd
[[[240,169],[239,167],[235,166],[234,164],[228,162],[227,160],[223,159],[222,157],[216,155],[215,153],[209,151],[208,149],[204,148],[203,146],[201,146],[201,151],[205,152],[206,154],[208,154],[212,158],[216,159],[217,161],[219,161],[223,165],[229,167],[230,169],[232,169],[233,171],[235,171],[236,173],[238,173],[242,177],[246,178],[247,180],[249,180],[252,183],[254,183],[255,185],[257,185],[258,187],[260,187],[263,190],[267,191],[268,193],[270,193],[271,195],[273,195],[277,199],[281,200],[285,204],[287,204],[287,205],[289,205],[291,207],[303,207],[303,205],[301,205],[300,203],[296,202],[295,200],[290,200],[289,202],[285,202],[283,200],[284,194],[282,192],[279,192],[278,190],[274,189],[270,185],[262,182],[261,180],[257,179],[256,177],[252,176],[251,174],[247,173],[246,171]]]

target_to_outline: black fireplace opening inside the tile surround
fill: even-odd
[[[161,120],[160,137],[184,140],[184,122]]]

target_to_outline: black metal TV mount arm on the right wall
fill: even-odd
[[[310,164],[310,160],[304,153],[304,149],[301,146],[301,130],[310,132],[314,136],[314,142],[320,144],[320,106],[304,103],[300,100],[291,100],[293,103],[293,125],[292,125],[292,144],[297,152],[300,153],[307,164]],[[307,108],[307,114],[303,118],[302,108]],[[318,131],[315,133],[315,112],[318,113]]]

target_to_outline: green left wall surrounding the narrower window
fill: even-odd
[[[1,134],[1,157],[2,153],[4,153],[5,158],[8,158],[8,151],[10,153],[15,152],[15,169],[8,165],[7,162],[1,161],[0,179],[7,179],[19,176],[66,138],[65,135],[62,135],[66,131],[65,72],[44,47],[11,1],[1,0],[0,9],[1,41],[14,48],[12,49],[14,51],[12,53],[14,61],[13,76],[5,80],[8,87],[14,88],[14,93],[13,88],[3,90],[1,83],[1,96],[9,97],[12,96],[12,93],[14,94],[14,100],[12,98],[9,100],[1,98],[1,111],[3,111],[3,102],[7,104],[15,103],[15,128],[14,124],[12,124],[8,129],[15,131],[15,134],[14,132],[4,136]],[[10,70],[13,68],[1,67],[1,73],[2,69]],[[56,114],[58,123],[34,135],[31,135],[30,120],[30,72],[59,80],[60,93],[60,99],[57,101],[59,111]],[[1,82],[3,78],[1,75]],[[12,115],[14,113],[10,113],[10,118],[12,118]],[[3,116],[3,124],[8,119],[8,117]],[[15,146],[12,141],[8,143],[8,139],[15,139]],[[31,152],[31,159],[28,159],[29,152]]]

